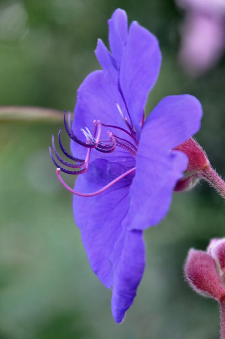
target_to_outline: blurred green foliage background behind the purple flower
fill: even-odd
[[[225,60],[199,79],[177,64],[183,13],[173,0],[0,1],[0,105],[73,110],[76,89],[99,68],[97,38],[121,7],[158,39],[163,61],[146,112],[164,96],[202,103],[197,140],[225,177]],[[225,236],[223,199],[201,182],[174,194],[171,210],[145,231],[147,265],[134,305],[118,325],[108,291],[91,271],[72,196],[49,157],[61,122],[0,122],[0,339],[217,339],[219,311],[183,279],[190,247]],[[63,142],[69,139],[63,131]],[[73,186],[74,178],[66,178]]]

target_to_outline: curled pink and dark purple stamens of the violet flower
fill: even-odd
[[[117,105],[119,113],[123,117],[119,105],[118,104],[116,104],[116,105]],[[51,153],[51,147],[49,146],[50,156],[51,156],[52,161],[54,162],[55,166],[57,166],[57,171],[56,171],[57,176],[58,176],[60,182],[67,188],[67,190],[69,190],[73,194],[80,195],[80,196],[85,196],[85,197],[95,196],[97,194],[104,192],[105,190],[107,190],[107,188],[114,185],[117,181],[119,181],[120,179],[124,178],[125,176],[129,175],[130,173],[132,173],[136,170],[136,167],[129,169],[129,171],[123,173],[118,178],[114,179],[108,185],[103,187],[101,190],[94,192],[94,193],[80,193],[80,192],[76,192],[76,191],[72,190],[72,188],[70,188],[61,178],[60,171],[67,173],[67,174],[72,174],[72,175],[78,175],[78,174],[85,173],[88,169],[89,160],[90,160],[90,153],[91,153],[92,148],[95,148],[97,151],[102,152],[102,153],[111,153],[115,150],[115,147],[118,146],[118,147],[125,149],[134,158],[136,158],[138,142],[137,142],[136,133],[135,133],[133,127],[129,124],[128,119],[125,118],[125,117],[123,117],[123,120],[125,121],[127,127],[129,128],[129,132],[122,127],[118,127],[118,126],[114,126],[114,125],[106,125],[106,124],[101,123],[100,120],[98,120],[98,121],[94,120],[94,122],[93,122],[94,123],[94,133],[93,133],[93,135],[91,134],[90,130],[87,127],[85,127],[85,129],[81,128],[81,131],[83,132],[83,134],[86,137],[86,142],[84,142],[84,141],[78,139],[73,134],[72,129],[71,129],[70,113],[69,113],[68,116],[69,116],[69,127],[68,127],[67,122],[66,122],[66,113],[64,111],[64,125],[65,125],[66,132],[69,135],[70,139],[72,139],[74,142],[78,143],[79,145],[87,148],[87,154],[86,154],[85,159],[79,159],[79,158],[73,157],[71,154],[69,154],[62,145],[62,142],[61,142],[61,139],[60,139],[60,133],[61,133],[61,128],[60,128],[59,134],[58,134],[58,140],[59,140],[60,148],[61,148],[62,152],[64,153],[64,155],[66,155],[70,160],[74,161],[75,163],[70,163],[70,162],[63,160],[57,152],[57,149],[56,149],[55,144],[54,144],[54,136],[52,135],[52,147],[53,147],[55,157],[58,159],[58,161],[62,165],[76,169],[74,171],[74,170],[69,170],[69,169],[62,167],[54,159],[54,157]],[[130,140],[127,140],[126,138],[121,138],[120,136],[115,135],[111,131],[107,132],[107,134],[109,135],[108,140],[100,140],[100,134],[101,134],[102,126],[109,127],[113,130],[123,132],[126,135],[126,137],[130,138]]]

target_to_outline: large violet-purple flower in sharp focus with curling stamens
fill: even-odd
[[[74,193],[74,219],[91,268],[113,286],[112,314],[120,323],[144,271],[143,230],[168,212],[187,166],[187,156],[173,148],[198,131],[202,109],[193,96],[169,96],[144,120],[160,68],[158,41],[136,21],[128,31],[126,12],[117,9],[109,20],[109,45],[111,53],[98,40],[103,71],[89,74],[78,89],[71,128],[65,120],[73,156],[59,133],[62,151],[78,164],[68,164],[53,148],[61,163],[81,168],[68,171],[54,160],[61,171],[83,173],[72,190],[57,169]]]

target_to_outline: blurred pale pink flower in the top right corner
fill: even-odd
[[[202,75],[225,50],[225,0],[176,0],[185,9],[179,61],[186,72]]]

